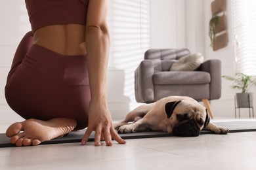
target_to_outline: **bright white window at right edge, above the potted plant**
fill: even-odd
[[[234,0],[236,68],[256,75],[256,1]]]

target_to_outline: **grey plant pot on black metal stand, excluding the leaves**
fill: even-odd
[[[253,93],[236,93],[237,107],[253,107]]]

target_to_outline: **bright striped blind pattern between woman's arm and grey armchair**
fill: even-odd
[[[110,0],[109,25],[111,50],[109,67],[123,71],[123,95],[129,97],[130,107],[135,100],[134,72],[144,52],[150,48],[151,0]]]

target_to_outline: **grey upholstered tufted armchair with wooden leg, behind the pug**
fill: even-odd
[[[152,103],[170,95],[186,95],[203,101],[211,112],[209,100],[221,97],[221,61],[209,59],[195,71],[169,71],[177,59],[188,54],[186,48],[147,50],[135,71],[137,102]]]

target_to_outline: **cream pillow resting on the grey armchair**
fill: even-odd
[[[201,63],[203,63],[202,54],[189,54],[173,63],[170,71],[194,71]]]

